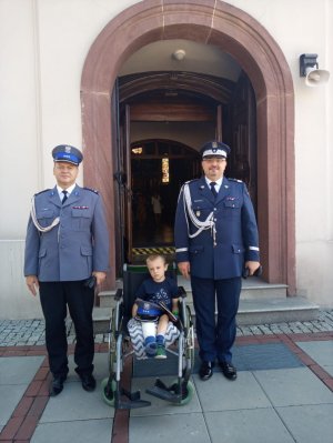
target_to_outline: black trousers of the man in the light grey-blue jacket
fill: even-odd
[[[93,371],[94,339],[93,289],[83,281],[40,282],[40,301],[46,319],[46,344],[53,376],[68,374],[67,306],[75,328],[75,371],[79,375]]]

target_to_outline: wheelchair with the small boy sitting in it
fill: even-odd
[[[141,400],[140,391],[124,389],[121,381],[127,358],[133,355],[132,363],[135,364],[139,360],[149,359],[147,351],[159,359],[165,358],[165,351],[176,358],[176,361],[171,362],[175,363],[171,364],[175,380],[168,386],[157,377],[154,386],[145,390],[148,394],[178,405],[188,404],[193,396],[194,385],[190,380],[194,365],[191,309],[186,305],[184,288],[176,285],[175,266],[167,269],[163,255],[150,255],[147,266],[123,266],[123,288],[119,288],[114,295],[117,305],[111,311],[109,324],[109,376],[101,383],[103,400],[115,409],[145,407],[151,404]],[[169,316],[169,322],[164,314]],[[149,323],[153,325],[152,331],[144,335],[144,324]]]

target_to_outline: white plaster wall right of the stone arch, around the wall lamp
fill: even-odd
[[[294,79],[297,294],[333,305],[333,1],[229,1],[265,27],[281,47]],[[317,53],[331,72],[324,87],[299,77],[299,56]]]

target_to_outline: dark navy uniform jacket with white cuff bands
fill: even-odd
[[[241,276],[245,261],[260,261],[259,235],[253,205],[243,182],[223,178],[214,199],[204,177],[190,181],[191,208],[200,221],[213,211],[216,245],[211,229],[198,231],[188,217],[181,189],[174,226],[176,262],[190,261],[191,275],[202,279]]]

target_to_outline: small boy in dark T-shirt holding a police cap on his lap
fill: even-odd
[[[167,359],[165,332],[170,319],[161,304],[176,318],[179,288],[173,279],[165,275],[168,263],[163,255],[152,254],[145,262],[151,276],[135,292],[132,316],[142,323],[147,355]]]

